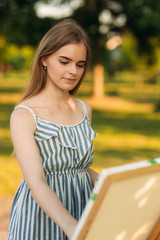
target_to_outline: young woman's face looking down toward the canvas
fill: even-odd
[[[86,64],[87,50],[83,43],[68,44],[42,60],[47,67],[47,83],[63,91],[72,90],[80,81]]]

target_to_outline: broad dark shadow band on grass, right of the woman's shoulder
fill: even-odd
[[[93,110],[92,122],[97,131],[112,127],[118,133],[128,132],[145,136],[160,136],[160,118],[150,117],[151,113],[134,114]]]

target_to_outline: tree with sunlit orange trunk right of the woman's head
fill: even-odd
[[[109,2],[109,1],[108,1]],[[110,1],[110,3],[113,3]],[[107,55],[106,41],[109,33],[117,34],[116,20],[122,12],[120,5],[113,7],[113,13],[109,11],[107,1],[86,0],[85,4],[78,8],[73,17],[79,21],[90,35],[93,52],[94,86],[93,95],[95,98],[104,97],[104,62]],[[120,25],[120,24],[119,24]]]

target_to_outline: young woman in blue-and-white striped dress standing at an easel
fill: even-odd
[[[90,59],[74,20],[43,37],[29,86],[11,115],[11,137],[24,178],[15,195],[8,240],[63,240],[74,233],[98,177],[91,107],[76,99]]]

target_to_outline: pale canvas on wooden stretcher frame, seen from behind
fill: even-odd
[[[72,240],[155,240],[159,218],[160,158],[104,169]]]

